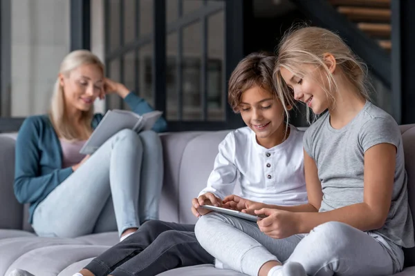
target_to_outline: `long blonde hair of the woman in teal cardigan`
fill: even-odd
[[[64,75],[64,77],[69,77],[72,70],[87,64],[98,66],[102,70],[102,74],[104,74],[104,64],[89,50],[75,50],[66,55],[61,63],[59,73]],[[68,120],[68,115],[65,110],[64,88],[60,84],[59,77],[57,77],[55,86],[53,87],[53,95],[48,114],[59,138],[64,138],[69,141],[80,139],[80,134],[75,129],[75,126]],[[92,118],[93,107],[88,111],[82,112],[82,128],[89,135],[92,132]]]

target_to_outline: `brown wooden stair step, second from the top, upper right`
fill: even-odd
[[[338,7],[338,12],[351,20],[390,21],[391,10],[382,8]]]

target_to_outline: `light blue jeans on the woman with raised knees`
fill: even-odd
[[[121,130],[108,139],[35,209],[44,237],[79,237],[158,219],[163,150],[154,131]]]

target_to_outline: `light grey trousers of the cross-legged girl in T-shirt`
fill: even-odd
[[[273,239],[255,222],[212,212],[199,218],[195,233],[213,257],[251,276],[269,261],[298,262],[313,276],[380,276],[400,270],[374,237],[340,222],[317,226],[308,235]]]

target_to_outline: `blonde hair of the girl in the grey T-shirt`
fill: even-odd
[[[320,79],[317,81],[321,83],[326,96],[331,99],[331,103],[334,105],[334,93],[338,91],[338,83],[324,63],[324,55],[326,54],[333,55],[336,68],[340,68],[347,81],[356,88],[363,98],[369,100],[371,86],[367,79],[366,64],[352,52],[338,34],[317,27],[290,30],[284,34],[279,43],[273,76],[277,86],[276,90],[281,94],[280,97],[289,99],[290,104],[295,106],[293,91],[288,88],[282,78],[280,68],[286,68],[294,75],[304,78],[307,72],[302,68],[304,68],[304,64],[310,64],[320,68]],[[324,82],[326,85],[323,85]],[[306,110],[309,123],[310,111],[308,108]]]

